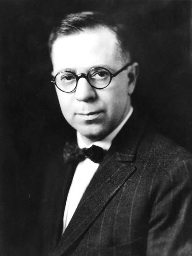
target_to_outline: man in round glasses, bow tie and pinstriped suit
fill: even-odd
[[[191,156],[133,110],[138,64],[126,33],[100,13],[82,12],[51,34],[53,83],[77,141],[71,132],[63,178],[53,165],[48,179],[57,182],[42,203],[46,255],[191,255]],[[72,140],[102,149],[95,159],[94,147],[88,155],[76,147],[70,158]]]

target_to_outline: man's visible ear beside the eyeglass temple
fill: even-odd
[[[137,62],[134,62],[128,69],[128,78],[129,78],[128,93],[129,93],[129,95],[132,94],[135,89],[138,75],[139,75],[139,65]]]

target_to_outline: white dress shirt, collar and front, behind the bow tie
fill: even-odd
[[[121,124],[119,124],[119,126],[113,132],[111,132],[103,140],[96,141],[90,145],[85,144],[85,142],[82,140],[81,134],[77,132],[77,142],[78,142],[79,148],[90,148],[94,144],[96,146],[103,148],[104,150],[108,150],[111,147],[112,140],[117,135],[117,133],[122,129],[123,125],[127,122],[129,117],[131,116],[132,112],[133,112],[133,108],[130,107],[130,110],[127,116],[123,119]],[[89,185],[98,167],[99,167],[99,164],[92,162],[89,158],[85,158],[84,161],[81,161],[78,164],[75,170],[75,174],[73,176],[73,180],[70,186],[70,190],[69,190],[66,205],[65,205],[64,217],[63,217],[63,233],[67,228],[81,200],[81,197],[85,192],[85,189]]]

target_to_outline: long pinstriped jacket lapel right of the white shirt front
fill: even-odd
[[[136,170],[132,162],[143,133],[142,124],[136,123],[135,117],[132,116],[114,139],[111,148],[94,174],[57,245],[55,256],[62,255],[74,244],[97,219],[110,198]]]

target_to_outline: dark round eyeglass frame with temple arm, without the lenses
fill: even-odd
[[[74,88],[72,91],[70,91],[70,92],[75,91],[75,89],[77,88],[78,81],[79,81],[80,78],[85,78],[85,79],[87,80],[87,82],[91,85],[91,87],[93,87],[93,88],[95,88],[95,89],[98,89],[98,90],[101,90],[101,89],[106,88],[106,87],[111,83],[111,80],[112,80],[113,77],[119,75],[119,73],[121,73],[123,70],[125,70],[126,68],[128,68],[128,67],[131,66],[132,64],[133,64],[133,62],[127,63],[124,67],[122,67],[121,69],[119,69],[119,70],[118,70],[116,73],[114,73],[114,74],[111,73],[107,68],[96,67],[96,68],[105,69],[105,70],[109,73],[109,75],[110,75],[110,81],[109,81],[109,83],[108,83],[105,87],[102,87],[102,88],[97,88],[97,87],[95,87],[95,86],[92,85],[91,82],[89,81],[89,73],[90,73],[93,69],[95,69],[95,68],[91,68],[91,69],[88,71],[87,74],[85,74],[85,73],[80,73],[80,74],[78,74],[78,75],[76,75],[74,72],[68,71],[68,70],[60,71],[60,72],[58,72],[58,73],[55,75],[55,77],[53,78],[53,80],[51,81],[51,83],[55,84],[55,86],[56,86],[60,91],[65,92],[65,91],[63,91],[62,89],[60,89],[60,88],[57,86],[57,84],[56,84],[56,76],[59,75],[60,73],[63,73],[63,72],[70,72],[70,73],[73,74],[73,75],[75,76],[75,78],[76,78],[76,86],[75,86],[75,88]],[[69,93],[69,92],[66,92],[66,93]]]

